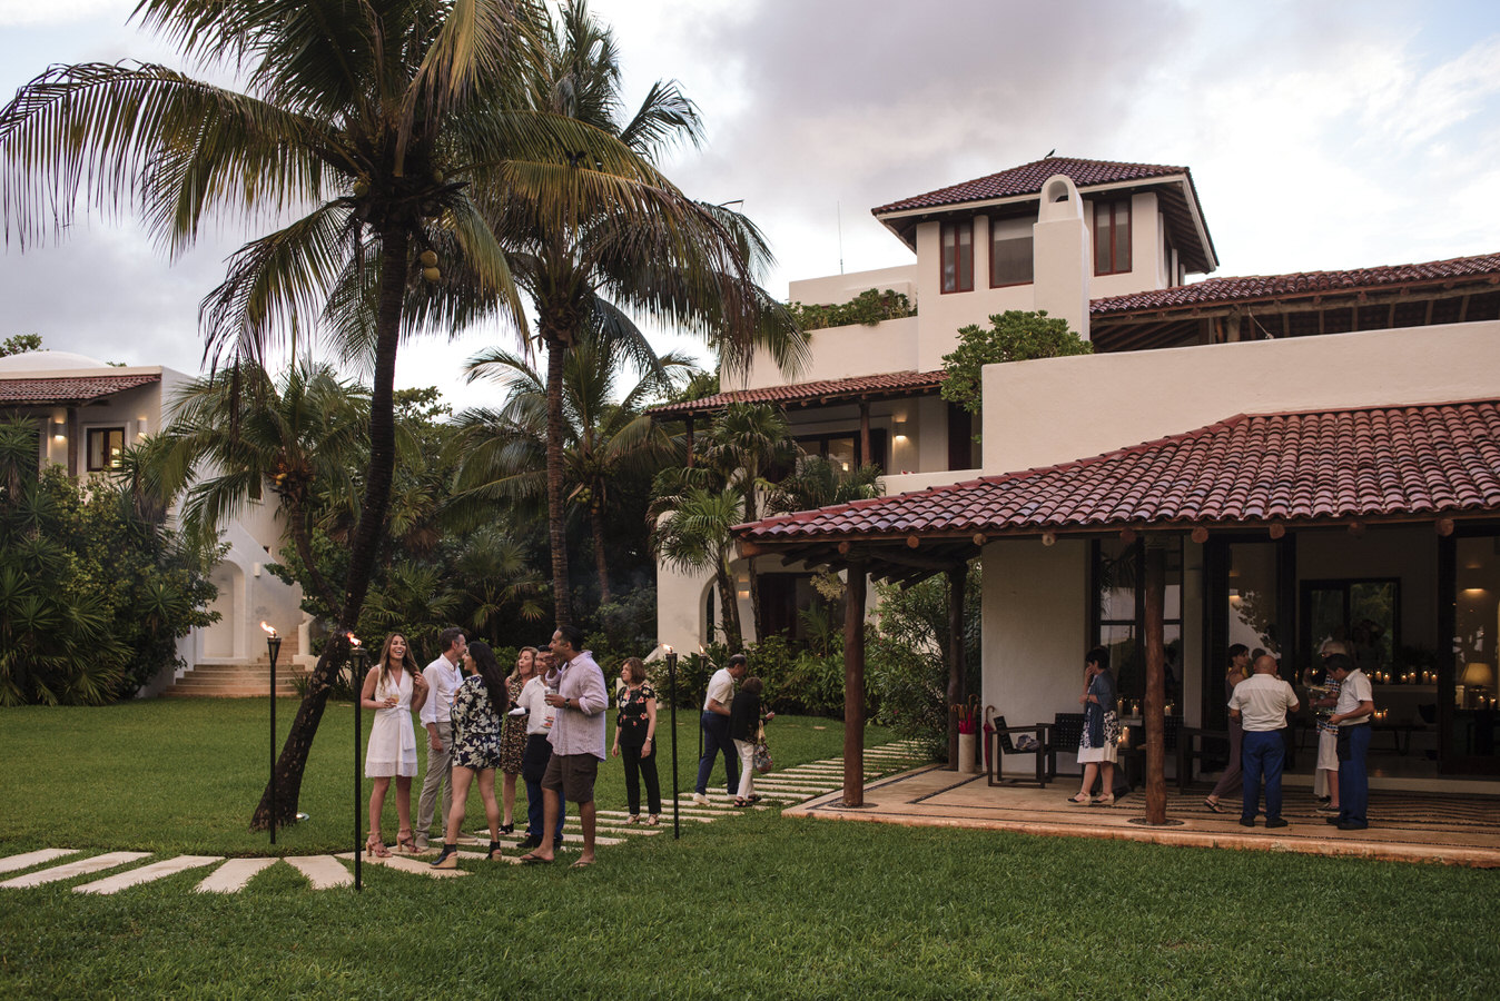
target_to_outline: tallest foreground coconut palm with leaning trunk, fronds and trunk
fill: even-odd
[[[214,214],[292,216],[204,300],[207,355],[258,361],[320,322],[363,339],[364,498],[334,641],[278,764],[285,820],[384,532],[400,339],[486,312],[524,327],[488,222],[508,199],[566,228],[579,204],[656,217],[678,196],[622,142],[522,96],[544,19],[531,0],[141,0],[135,16],[189,60],[232,63],[244,93],[152,63],[48,69],[0,111],[0,207],[22,249],[66,232],[78,204],[138,208],[172,253]]]

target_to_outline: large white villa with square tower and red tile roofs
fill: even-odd
[[[796,384],[765,360],[657,411],[704,423],[776,402],[810,451],[886,471],[879,500],[738,530],[768,631],[813,569],[910,581],[980,557],[982,704],[1011,725],[1076,710],[1095,644],[1128,704],[1149,539],[1166,548],[1168,734],[1222,727],[1230,643],[1296,677],[1341,637],[1377,682],[1390,781],[1500,773],[1500,255],[1186,283],[1218,267],[1190,171],[1065,157],[874,216],[912,264],[790,298],[892,289],[915,316],[814,331]],[[1065,318],[1095,354],[988,367],[970,448],[938,396],[942,355],[1010,309]],[[706,641],[710,592],[658,568],[662,643]],[[744,584],[741,602],[748,638]]]

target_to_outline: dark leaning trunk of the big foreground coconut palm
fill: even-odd
[[[381,232],[381,291],[380,310],[375,318],[375,381],[370,387],[370,463],[364,480],[364,506],[360,523],[354,529],[350,548],[350,569],[344,578],[344,607],[333,626],[333,637],[322,647],[322,656],[308,679],[308,694],[297,706],[297,715],[286,733],[280,757],[276,760],[276,824],[285,824],[297,817],[297,797],[302,794],[302,775],[308,767],[312,739],[322,722],[322,710],[328,703],[328,688],[339,670],[348,661],[350,643],[345,632],[358,622],[369,590],[370,572],[375,568],[375,553],[380,548],[381,530],[386,526],[386,511],[390,506],[390,484],[396,471],[396,348],[400,342],[400,315],[406,295],[406,271],[410,268],[410,234],[399,223]],[[363,679],[354,679],[358,691]],[[250,817],[250,830],[266,830],[270,826],[272,787],[266,785],[261,802]]]

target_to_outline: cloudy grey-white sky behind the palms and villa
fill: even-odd
[[[0,0],[0,91],[48,63],[180,64],[134,0]],[[744,199],[788,279],[904,264],[873,205],[1059,156],[1192,169],[1218,274],[1500,250],[1500,4],[1378,0],[596,0],[633,97],[676,78],[708,123],[669,175]],[[46,346],[196,372],[198,301],[242,234],[170,264],[129,219],[9,241],[4,327]],[[454,403],[466,331],[406,352]],[[672,342],[674,345],[678,342]]]

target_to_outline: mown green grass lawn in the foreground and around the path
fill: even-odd
[[[348,712],[318,737],[288,853],[348,839]],[[243,832],[262,725],[246,704],[0,712],[0,851],[264,851]],[[771,736],[784,764],[842,740],[807,719]],[[602,803],[621,787],[610,761]],[[0,995],[1485,998],[1500,970],[1500,877],[1440,866],[764,811],[586,871],[465,868],[366,866],[362,895],[285,866],[213,899],[190,893],[202,871],[112,898],[0,890]]]

